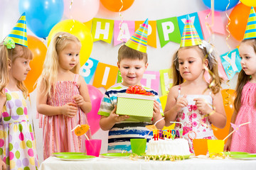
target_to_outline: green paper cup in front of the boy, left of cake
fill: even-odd
[[[146,139],[131,139],[132,153],[141,156],[146,151]]]

